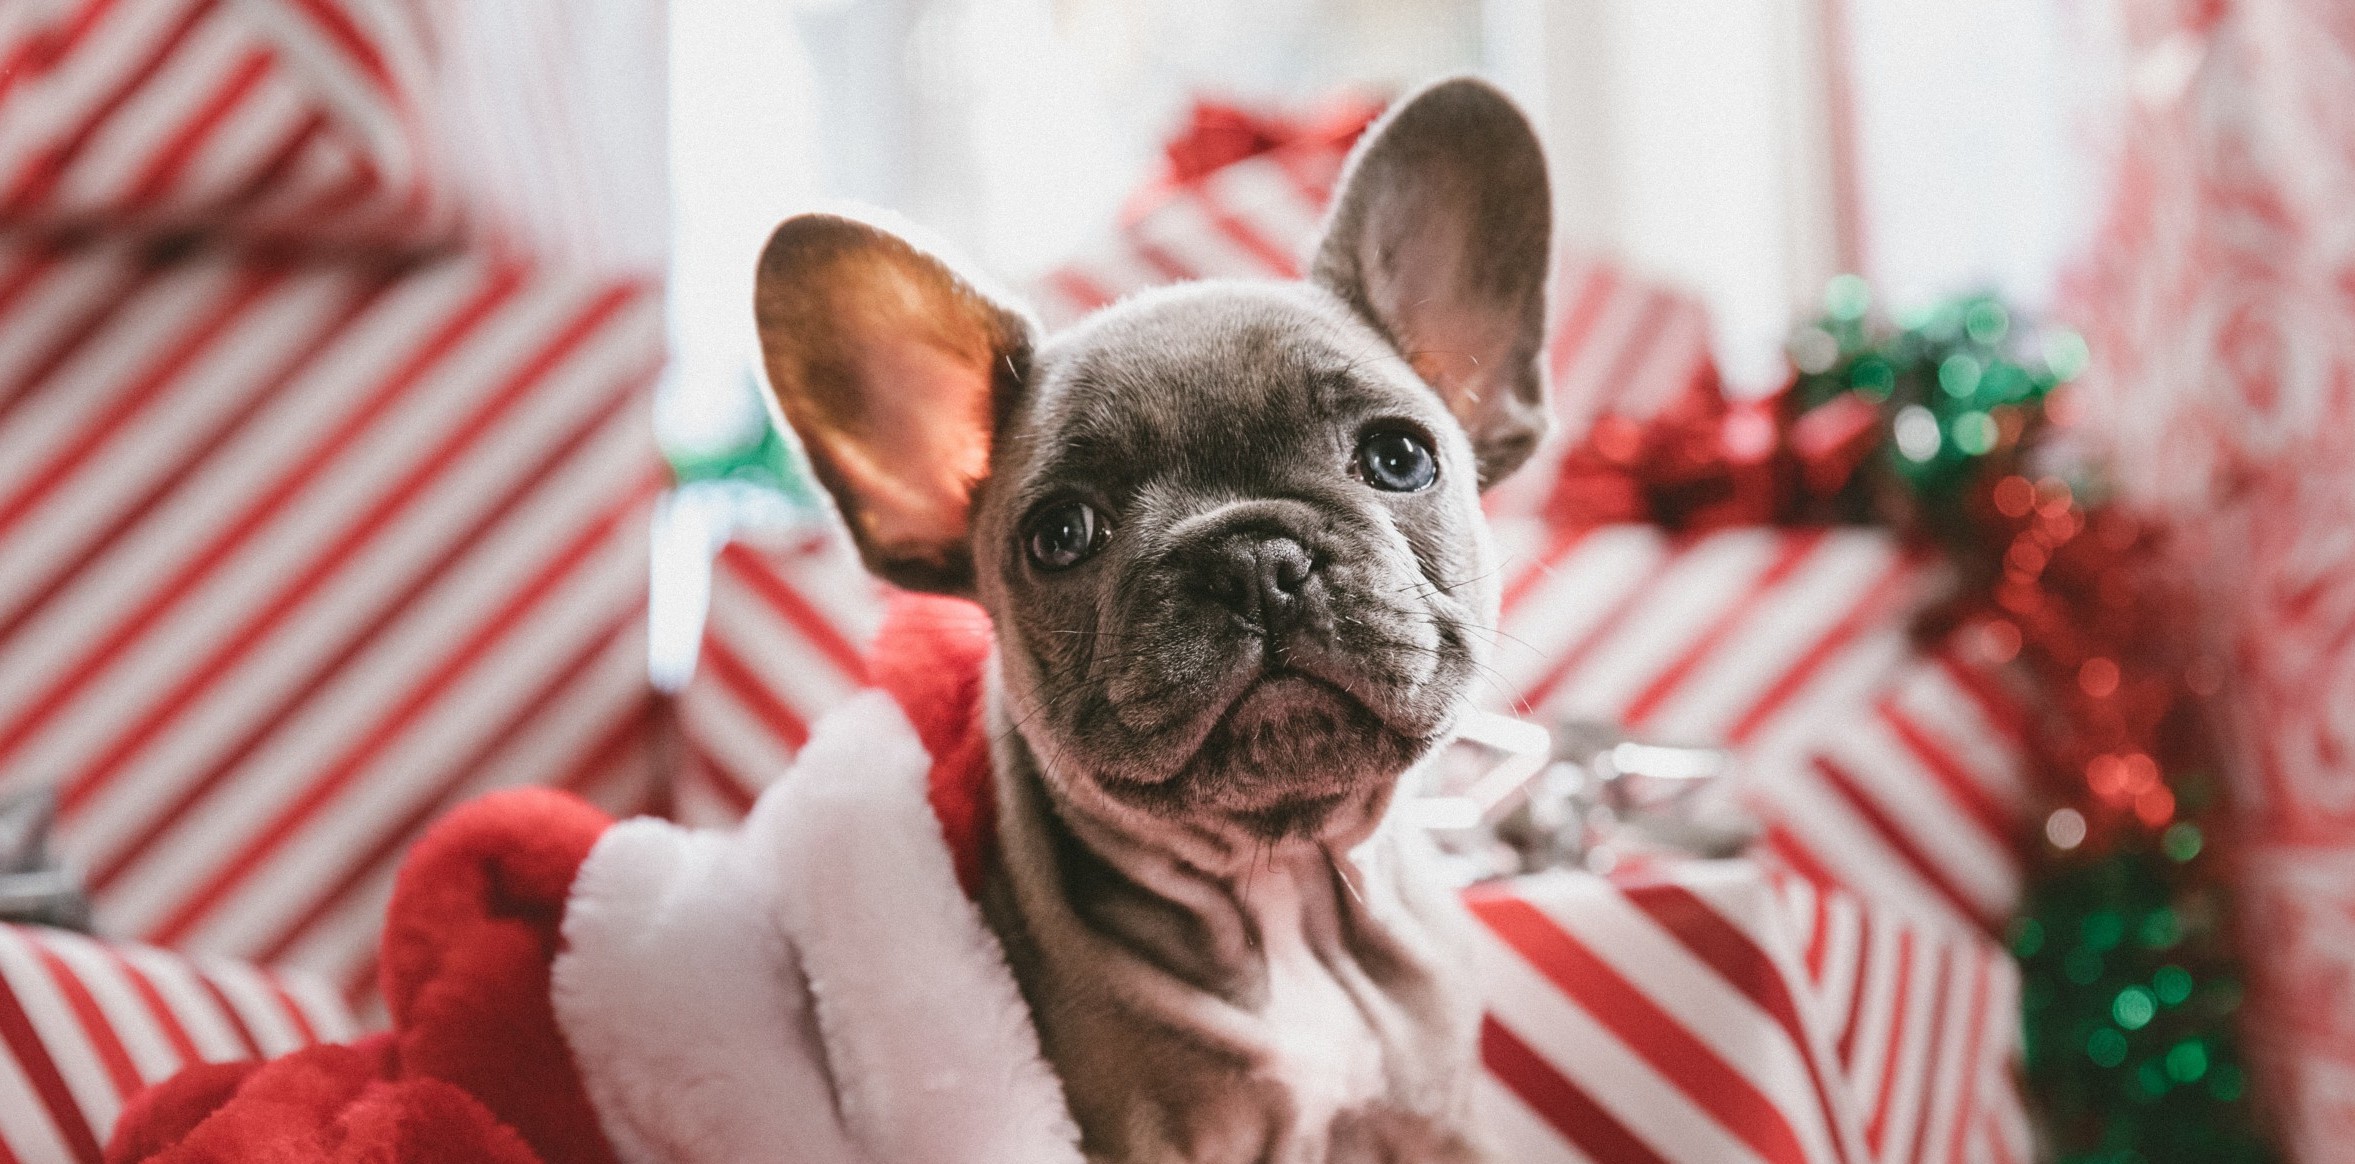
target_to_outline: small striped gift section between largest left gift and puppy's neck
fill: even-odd
[[[883,584],[829,525],[756,530],[711,563],[695,679],[678,693],[683,761],[671,815],[725,825],[810,738],[810,723],[867,683]]]

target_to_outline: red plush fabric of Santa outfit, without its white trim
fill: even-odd
[[[989,615],[893,601],[876,681],[935,756],[930,801],[966,893],[996,801],[982,728]],[[612,818],[551,789],[471,801],[410,851],[384,921],[393,1030],[271,1063],[198,1065],[137,1096],[108,1164],[612,1164],[556,1025],[549,968],[572,879]]]

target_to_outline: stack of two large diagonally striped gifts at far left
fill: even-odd
[[[104,931],[353,999],[426,820],[664,738],[659,290],[462,233],[422,12],[0,9],[0,787]]]

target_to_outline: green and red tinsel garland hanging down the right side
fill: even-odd
[[[1870,405],[1872,452],[1804,497],[1941,544],[1962,594],[1924,634],[1962,631],[2035,688],[2032,754],[2054,799],[2028,902],[2028,1091],[2063,1164],[2275,1159],[2235,1030],[2225,803],[2204,700],[2223,667],[2188,641],[2162,537],[2065,462],[2084,342],[2028,335],[1992,297],[1884,320],[1835,280],[1790,344],[1790,431]]]

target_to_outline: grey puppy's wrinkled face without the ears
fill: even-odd
[[[1041,349],[975,533],[1046,768],[1269,839],[1387,789],[1495,613],[1470,438],[1307,285],[1180,287]]]

